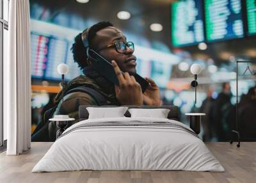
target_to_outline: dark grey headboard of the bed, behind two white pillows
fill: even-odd
[[[118,107],[118,106],[79,106],[79,121],[87,120],[89,113],[86,107]],[[178,106],[126,106],[129,108],[140,108],[140,109],[170,109],[167,118],[170,120],[180,120],[180,113]],[[126,117],[131,117],[129,111],[125,113]]]

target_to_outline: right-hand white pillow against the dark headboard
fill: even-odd
[[[150,118],[167,118],[170,109],[128,109],[131,118],[150,117]]]

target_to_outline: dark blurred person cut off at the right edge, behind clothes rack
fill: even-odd
[[[256,139],[256,86],[239,102],[239,132],[242,139]]]

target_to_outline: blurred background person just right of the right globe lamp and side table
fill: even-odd
[[[204,129],[203,141],[211,141],[212,139],[212,130],[213,130],[213,122],[212,122],[212,104],[214,99],[212,98],[212,93],[214,89],[210,86],[207,90],[207,97],[202,102],[202,106],[200,107],[200,113],[205,113],[206,116],[202,118],[202,127]]]

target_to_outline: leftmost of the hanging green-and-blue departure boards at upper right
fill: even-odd
[[[182,0],[172,4],[172,44],[179,47],[204,42],[202,0]]]

